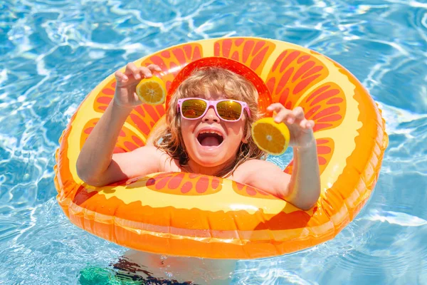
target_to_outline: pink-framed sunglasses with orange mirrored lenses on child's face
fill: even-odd
[[[201,98],[178,99],[178,110],[183,118],[197,120],[214,106],[216,115],[226,122],[236,122],[242,118],[243,110],[251,115],[248,104],[238,100],[205,100]]]

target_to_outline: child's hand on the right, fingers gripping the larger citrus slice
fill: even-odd
[[[285,123],[290,132],[290,145],[294,147],[309,147],[315,142],[313,127],[315,122],[304,117],[304,110],[296,107],[293,110],[286,109],[280,103],[268,106],[267,110],[275,111],[276,123]]]

